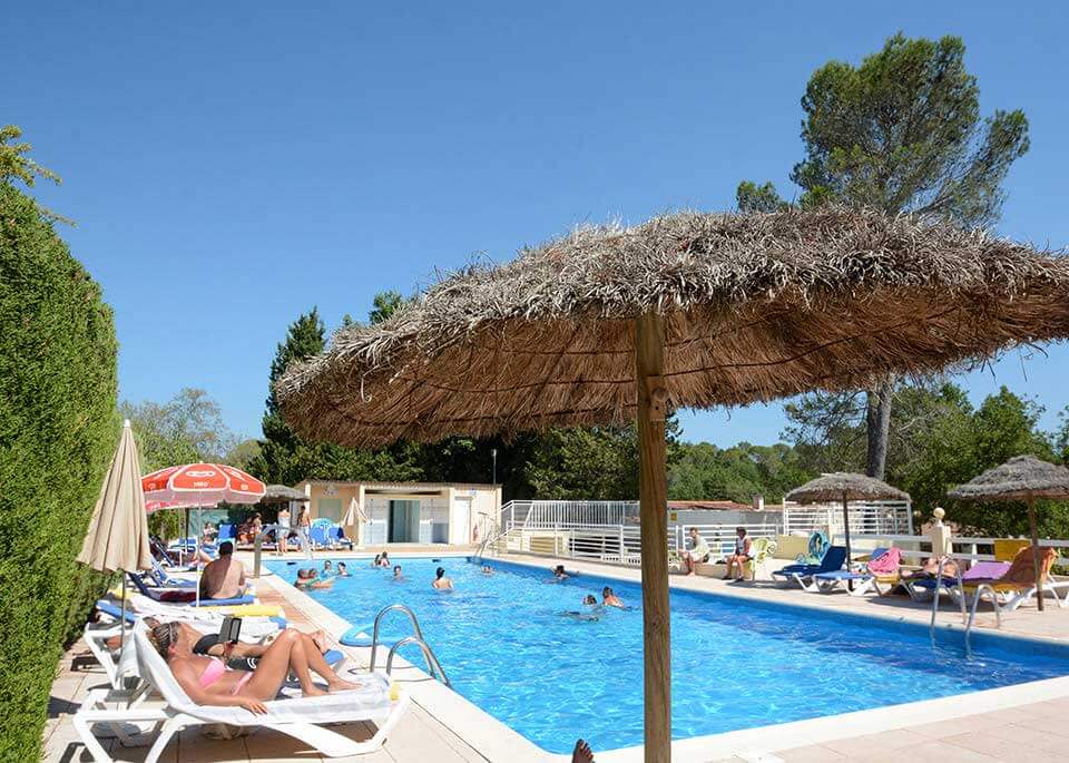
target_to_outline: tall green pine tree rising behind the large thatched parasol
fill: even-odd
[[[930,214],[963,226],[996,223],[1002,183],[1029,147],[1028,120],[1020,110],[981,119],[964,52],[957,37],[900,33],[860,66],[830,61],[817,69],[802,98],[805,155],[791,173],[802,188],[800,204]],[[743,182],[736,198],[744,212],[786,204],[771,183]],[[865,470],[874,477],[886,468],[895,385],[886,378],[865,393]]]

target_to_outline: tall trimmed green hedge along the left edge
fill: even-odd
[[[116,354],[100,287],[0,182],[0,761],[40,759],[63,644],[99,593],[75,556],[118,440]]]

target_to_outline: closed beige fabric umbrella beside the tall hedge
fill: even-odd
[[[148,516],[141,491],[141,469],[130,420],[122,423],[119,447],[100,486],[100,497],[92,510],[89,530],[81,544],[78,561],[101,573],[151,569],[148,549]],[[122,616],[119,618],[119,653],[126,629],[126,575],[122,576]]]

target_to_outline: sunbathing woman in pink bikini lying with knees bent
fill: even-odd
[[[233,671],[218,657],[194,654],[200,634],[177,623],[164,623],[149,630],[149,640],[167,661],[179,686],[198,705],[237,706],[253,713],[266,713],[265,702],[274,700],[293,671],[306,697],[326,694],[312,683],[310,669],[326,679],[327,689],[355,688],[342,681],[323,662],[318,648],[298,630],[287,628],[259,657],[255,671]],[[312,644],[311,648],[307,644]]]

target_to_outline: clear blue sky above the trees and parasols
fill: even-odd
[[[1000,232],[1069,244],[1060,3],[35,2],[4,21],[0,120],[63,177],[37,194],[115,307],[121,395],[204,388],[248,436],[312,305],[364,317],[377,291],[576,223],[730,208],[744,178],[793,193],[810,74],[896,30],[963,37],[983,113],[1024,109]],[[1067,360],[964,382],[1053,425]],[[778,404],[683,422],[725,446],[784,424]]]

